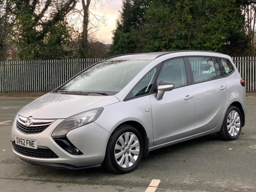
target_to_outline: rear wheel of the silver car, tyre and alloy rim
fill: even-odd
[[[221,139],[235,140],[242,130],[242,114],[239,108],[230,106],[223,120],[221,130],[217,133]]]

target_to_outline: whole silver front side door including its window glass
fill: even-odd
[[[154,146],[183,139],[195,128],[194,90],[187,85],[183,58],[166,61],[157,84],[160,81],[173,83],[174,89],[166,91],[159,101],[155,94],[150,95]]]

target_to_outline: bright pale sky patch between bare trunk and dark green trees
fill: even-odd
[[[111,31],[116,28],[116,19],[119,16],[119,10],[121,10],[122,0],[102,0],[102,3],[104,5],[102,9],[99,8],[99,6],[96,6],[96,10],[90,8],[90,11],[93,12],[93,14],[105,15],[105,18],[107,19],[107,25],[101,26],[94,35],[96,35],[100,42],[111,44]]]

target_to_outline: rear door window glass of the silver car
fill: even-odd
[[[190,66],[192,68],[194,82],[209,81],[221,76],[219,66],[215,69],[216,59],[210,57],[190,57]]]

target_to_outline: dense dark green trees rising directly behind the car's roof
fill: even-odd
[[[120,16],[123,20],[114,31],[113,55],[174,50],[239,55],[247,48],[241,2],[236,0],[151,0],[144,2],[148,6],[143,7],[140,15],[143,22],[135,26],[130,19],[122,17],[127,9],[133,9],[133,6],[126,8],[125,2]],[[140,1],[128,2],[135,5]]]

